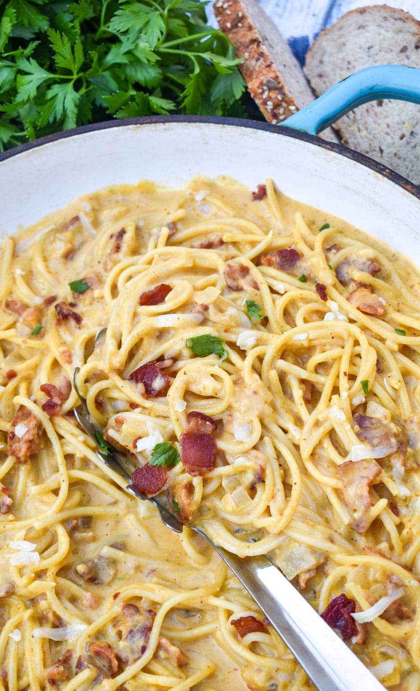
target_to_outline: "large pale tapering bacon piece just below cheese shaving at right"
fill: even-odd
[[[381,474],[382,468],[371,461],[347,461],[338,466],[338,477],[343,481],[343,498],[352,518],[352,528],[363,535],[371,520],[367,511],[372,506],[370,483]]]

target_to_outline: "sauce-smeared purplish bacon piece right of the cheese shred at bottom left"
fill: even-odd
[[[114,627],[121,634],[118,656],[125,663],[133,663],[145,652],[156,616],[154,609],[139,609],[132,603],[122,605]]]

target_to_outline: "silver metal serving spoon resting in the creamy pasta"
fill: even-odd
[[[101,332],[97,334],[99,339],[104,333],[104,330],[101,331],[102,334]],[[72,382],[82,403],[83,413],[73,408],[75,417],[86,434],[92,437],[100,448],[97,437],[100,430],[97,430],[91,422],[86,399],[77,388],[75,379],[78,373],[79,368],[75,368]],[[151,502],[158,509],[166,527],[176,533],[182,533],[184,525],[173,513],[168,511],[159,500],[148,497],[131,484],[131,476],[127,471],[127,458],[123,453],[113,449],[106,453],[97,450],[96,454],[108,468],[124,477],[124,480],[128,482],[126,491],[137,499]],[[383,685],[298,593],[292,583],[289,583],[269,557],[262,555],[240,558],[223,547],[215,545],[201,528],[192,525],[188,527],[200,533],[227,563],[274,626],[280,638],[283,638],[318,691],[384,690]]]

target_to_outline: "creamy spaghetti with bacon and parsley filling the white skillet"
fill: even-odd
[[[385,687],[417,690],[417,269],[226,178],[90,193],[0,262],[0,690],[314,688],[216,553],[99,459],[75,367],[132,482],[269,553]]]

